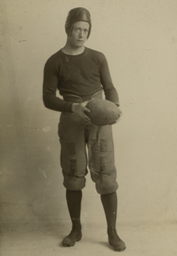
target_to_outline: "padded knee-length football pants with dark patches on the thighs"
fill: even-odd
[[[102,98],[102,92],[92,95]],[[65,95],[65,101],[83,102],[83,98]],[[117,190],[112,126],[96,126],[75,113],[61,113],[58,125],[61,142],[61,168],[64,186],[68,190],[82,190],[90,170],[98,194]]]

